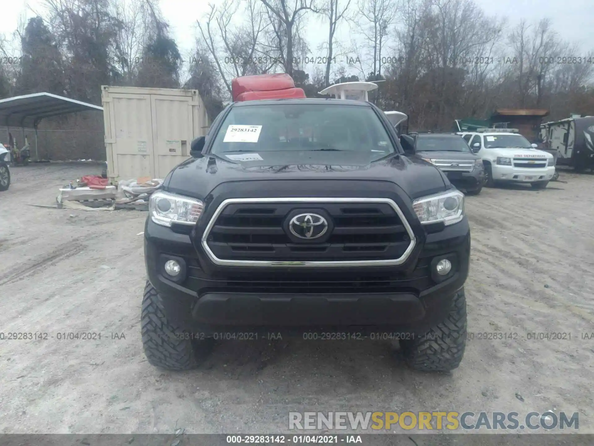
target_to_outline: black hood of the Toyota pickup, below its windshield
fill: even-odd
[[[369,161],[369,153],[365,152],[278,151],[259,155],[263,159],[258,161],[230,162],[213,155],[189,158],[169,173],[163,189],[205,199],[219,184],[231,181],[390,181],[415,199],[443,191],[449,184],[439,169],[421,159],[404,155],[374,162]],[[296,164],[295,159],[302,161]],[[274,185],[271,184],[270,188],[273,189]]]

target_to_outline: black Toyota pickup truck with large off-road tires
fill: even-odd
[[[380,109],[235,102],[191,155],[150,197],[141,329],[152,365],[193,368],[217,339],[323,331],[398,339],[413,369],[459,366],[464,196],[403,150]]]

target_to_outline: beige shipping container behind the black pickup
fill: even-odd
[[[102,86],[108,178],[165,178],[189,158],[208,117],[197,90]]]

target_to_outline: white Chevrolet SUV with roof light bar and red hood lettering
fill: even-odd
[[[479,128],[458,134],[482,158],[488,187],[510,181],[544,189],[555,174],[554,156],[535,149],[537,145],[530,144],[516,128]]]

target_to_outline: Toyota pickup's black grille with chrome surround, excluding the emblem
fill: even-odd
[[[316,210],[330,217],[330,235],[295,243],[283,227],[287,217]],[[365,198],[229,199],[202,237],[210,259],[229,266],[400,265],[415,243],[393,200]]]

